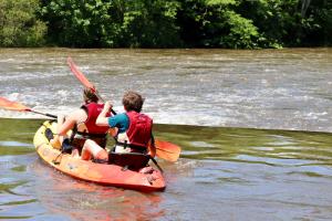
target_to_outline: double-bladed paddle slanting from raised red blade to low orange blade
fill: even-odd
[[[103,101],[102,97],[98,95],[95,86],[91,82],[89,82],[89,80],[84,76],[84,74],[77,69],[77,66],[75,65],[73,60],[69,56],[66,61],[68,61],[68,65],[70,66],[72,73],[77,77],[77,80],[85,87],[93,91],[101,101]],[[112,109],[112,113],[114,115],[116,115],[116,113],[113,109]],[[157,140],[157,139],[155,140],[155,147],[156,147],[157,157],[163,158],[168,161],[173,161],[173,162],[175,162],[178,159],[179,154],[181,151],[179,146],[168,143],[168,141],[163,141],[163,140]]]

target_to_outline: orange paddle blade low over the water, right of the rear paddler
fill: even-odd
[[[155,146],[157,157],[173,162],[178,159],[181,151],[179,146],[164,140],[156,139]]]

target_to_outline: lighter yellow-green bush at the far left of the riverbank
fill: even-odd
[[[38,0],[0,0],[0,46],[43,45],[46,27],[38,10]]]

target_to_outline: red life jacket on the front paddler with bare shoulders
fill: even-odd
[[[95,120],[103,110],[104,104],[89,103],[83,105],[82,108],[85,109],[87,114],[87,118],[84,124],[87,128],[89,134],[106,134],[110,129],[108,126],[95,125]],[[110,114],[107,114],[106,116],[108,117]]]

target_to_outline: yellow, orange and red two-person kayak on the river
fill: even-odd
[[[41,159],[63,173],[100,185],[145,192],[165,189],[163,173],[148,165],[138,171],[134,171],[117,165],[96,164],[91,160],[74,158],[70,154],[62,154],[50,145],[45,136],[48,128],[54,131],[56,123],[46,120],[37,130],[33,138],[35,150]]]

